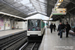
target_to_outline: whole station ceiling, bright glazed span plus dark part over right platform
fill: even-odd
[[[50,16],[57,0],[0,0],[0,12],[9,13],[23,18],[42,14]],[[69,6],[71,5],[71,6]],[[75,0],[64,0],[59,8],[67,8],[74,13]],[[58,20],[61,15],[53,15],[53,20]],[[64,15],[63,15],[64,16]]]

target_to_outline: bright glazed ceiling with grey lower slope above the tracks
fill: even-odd
[[[0,0],[0,11],[28,17],[36,13],[47,15],[46,0]]]

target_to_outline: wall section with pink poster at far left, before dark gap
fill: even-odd
[[[0,18],[0,31],[11,30],[13,22],[8,18]]]

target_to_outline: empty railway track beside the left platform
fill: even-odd
[[[0,50],[17,50],[27,41],[26,32],[0,39]]]

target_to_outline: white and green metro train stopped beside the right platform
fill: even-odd
[[[28,19],[27,20],[27,37],[29,42],[39,42],[45,32],[45,23],[42,19]]]

